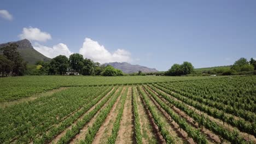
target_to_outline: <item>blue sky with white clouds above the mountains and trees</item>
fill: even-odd
[[[256,57],[255,8],[256,1],[1,0],[11,17],[2,11],[0,43],[30,38],[49,57],[80,52],[158,70],[183,61],[230,65]]]

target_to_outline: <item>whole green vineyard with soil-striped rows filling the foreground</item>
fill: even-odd
[[[0,81],[0,143],[256,143],[256,76]]]

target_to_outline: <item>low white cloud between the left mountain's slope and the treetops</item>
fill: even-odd
[[[53,47],[48,47],[48,46],[40,45],[38,43],[34,43],[33,47],[38,52],[42,53],[44,56],[49,58],[54,58],[59,55],[65,55],[69,57],[72,54],[72,52],[69,51],[67,45],[62,43],[54,45]]]

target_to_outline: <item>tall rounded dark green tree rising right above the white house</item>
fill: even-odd
[[[75,71],[82,71],[83,69],[83,55],[80,55],[79,53],[73,53],[69,56],[69,65],[70,67]]]

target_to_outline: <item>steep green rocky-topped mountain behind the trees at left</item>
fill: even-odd
[[[26,62],[28,62],[28,64],[34,64],[37,61],[50,61],[50,58],[36,51],[34,47],[31,45],[30,41],[27,39],[0,44],[0,48],[7,46],[9,44],[18,45],[18,52],[20,53],[21,57],[24,58]]]

